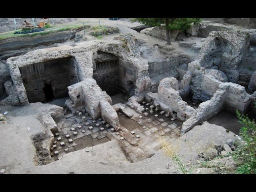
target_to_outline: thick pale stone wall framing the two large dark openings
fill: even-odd
[[[28,104],[29,101],[19,68],[35,63],[73,57],[77,79],[78,81],[82,81],[85,78],[93,77],[93,68],[96,66],[93,54],[98,51],[112,54],[115,58],[118,58],[118,86],[124,91],[129,92],[134,85],[134,94],[141,96],[146,94],[146,88],[150,83],[148,62],[139,55],[134,56],[132,50],[133,47],[131,46],[129,52],[127,47],[123,47],[120,41],[111,41],[90,46],[60,46],[35,50],[23,56],[8,58],[7,65],[10,69],[11,78],[14,82],[20,104],[22,105]]]

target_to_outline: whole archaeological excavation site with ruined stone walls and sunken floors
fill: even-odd
[[[0,24],[1,174],[256,173],[256,18]]]

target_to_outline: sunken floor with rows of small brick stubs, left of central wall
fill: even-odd
[[[99,118],[98,120],[92,120],[88,114],[84,114],[86,117],[86,122],[79,118],[78,116],[74,116],[68,112],[65,115],[65,119],[57,122],[58,127],[60,128],[60,132],[58,135],[54,135],[54,144],[56,148],[51,146],[51,156],[54,160],[60,159],[64,154],[73,152],[76,150],[80,150],[86,147],[93,147],[98,144],[102,144],[108,142],[113,139],[110,136],[111,127],[106,128],[106,123],[103,124],[103,120]],[[86,125],[88,123],[88,125]],[[96,124],[99,124],[97,127]],[[81,126],[80,128],[78,126]],[[89,127],[92,126],[92,130]],[[104,128],[103,131],[100,128]],[[71,129],[74,129],[73,131]],[[77,132],[77,135],[74,134]],[[69,138],[66,138],[66,135],[69,135]],[[57,138],[61,138],[58,141]],[[70,143],[68,140],[72,139]],[[61,142],[64,142],[64,146],[61,146]],[[66,150],[66,151],[65,151]],[[55,155],[54,152],[58,151],[58,155]]]

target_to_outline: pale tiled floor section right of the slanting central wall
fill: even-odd
[[[154,110],[150,114],[149,105],[146,102],[141,103],[141,105],[146,109],[148,115],[142,114],[141,118],[134,118],[138,123],[134,128],[130,126],[132,125],[131,121],[134,120],[126,118],[126,121],[128,121],[128,123],[126,122],[128,126],[126,126],[124,124],[125,119],[119,117],[119,119],[122,118],[120,123],[130,131],[130,134],[138,137],[138,146],[131,145],[127,140],[120,142],[121,148],[131,162],[153,156],[161,148],[161,142],[158,140],[159,136],[166,136],[167,139],[177,137],[182,124],[179,120],[172,121],[172,117],[166,117],[165,112],[163,113],[161,110]]]

